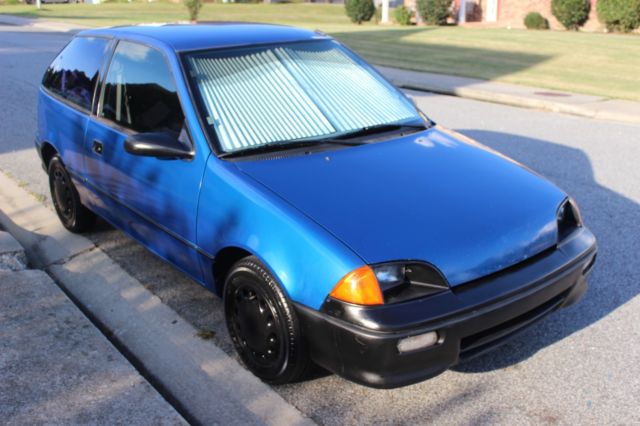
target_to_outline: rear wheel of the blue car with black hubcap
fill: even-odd
[[[60,222],[71,232],[90,229],[95,223],[96,215],[80,201],[78,190],[59,156],[56,155],[49,161],[48,173],[51,200]]]

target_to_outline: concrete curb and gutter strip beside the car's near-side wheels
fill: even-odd
[[[0,224],[190,422],[313,424],[0,173]]]

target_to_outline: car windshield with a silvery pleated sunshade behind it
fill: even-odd
[[[410,100],[333,40],[189,53],[185,66],[227,153],[423,123]]]

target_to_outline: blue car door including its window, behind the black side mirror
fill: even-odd
[[[118,42],[85,136],[87,182],[108,220],[197,280],[196,214],[207,155],[158,159],[125,151],[125,140],[165,132],[192,142],[164,53]]]

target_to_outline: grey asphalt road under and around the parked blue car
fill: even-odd
[[[0,26],[0,169],[36,194],[48,193],[33,150],[36,89],[67,38]],[[374,390],[319,372],[276,391],[322,424],[639,424],[640,127],[414,95],[440,124],[515,158],[576,198],[600,246],[590,290],[578,305],[500,349],[417,385]],[[89,236],[231,351],[216,297],[108,225]]]

